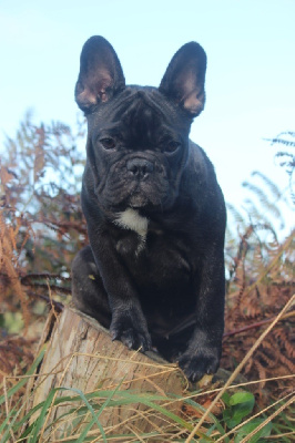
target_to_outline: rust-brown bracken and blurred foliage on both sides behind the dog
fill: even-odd
[[[22,426],[16,427],[17,422],[13,424],[12,419],[8,419],[17,413],[18,399],[24,392],[18,377],[30,371],[33,364],[34,350],[49,309],[54,306],[61,310],[70,302],[71,261],[87,243],[79,196],[84,161],[81,148],[84,145],[84,130],[83,122],[78,122],[74,131],[54,122],[34,125],[28,114],[16,138],[7,140],[1,157],[0,378],[3,381],[2,388],[7,389],[7,380],[12,375],[10,389],[14,389],[13,400],[12,396],[9,402],[3,400],[4,396],[2,400],[0,398],[0,414],[7,426],[0,427],[0,434],[2,431],[3,439],[6,432],[8,435],[8,440],[1,442],[10,441],[12,434],[14,436],[11,441],[17,441],[16,435],[24,435],[21,434],[23,422]],[[288,231],[291,220],[285,220],[284,208],[288,207],[289,210],[294,203],[292,179],[295,133],[282,133],[266,143],[277,146],[276,159],[289,178],[287,188],[279,189],[275,181],[254,172],[251,181],[243,184],[248,197],[243,202],[242,209],[227,205],[226,329],[221,365],[231,372],[257,342],[294,291],[294,231]],[[287,235],[283,236],[284,227]],[[206,435],[211,436],[204,441],[217,441],[222,432],[228,432],[248,414],[272,404],[269,413],[263,415],[263,433],[258,430],[261,422],[254,419],[250,427],[240,429],[240,434],[236,431],[235,435],[240,435],[240,440],[234,441],[242,441],[255,429],[252,440],[245,441],[292,441],[289,395],[295,372],[292,328],[294,330],[294,311],[288,310],[241,370],[251,393],[246,392],[242,398],[228,393],[223,395],[222,409],[213,411],[215,434],[213,427],[208,432],[207,426]],[[199,403],[186,402],[184,413],[195,422],[200,419],[200,409],[199,415],[196,409],[200,406],[202,410],[212,404],[214,398],[216,394],[210,393]],[[275,403],[279,400],[279,406],[285,405],[282,410]],[[272,418],[272,414],[274,418],[271,421],[267,416]],[[177,441],[185,441],[187,433],[187,429],[183,430],[184,436]],[[30,441],[39,441],[38,432],[35,435],[37,440]],[[171,441],[174,441],[172,436]],[[221,441],[233,440],[224,437]]]

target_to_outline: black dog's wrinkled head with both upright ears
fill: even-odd
[[[88,119],[87,186],[101,207],[165,210],[185,168],[193,117],[205,102],[206,55],[195,42],[173,56],[159,89],[126,86],[120,61],[102,37],[81,53],[75,101]]]

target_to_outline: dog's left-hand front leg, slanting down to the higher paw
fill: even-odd
[[[94,230],[89,229],[91,248],[112,312],[111,337],[130,349],[146,351],[151,348],[151,337],[128,269],[109,233],[91,235],[91,231]]]

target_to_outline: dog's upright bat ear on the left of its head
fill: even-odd
[[[75,84],[79,107],[91,113],[125,87],[124,74],[113,47],[103,37],[93,35],[83,45]]]

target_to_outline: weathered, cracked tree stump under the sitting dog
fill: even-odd
[[[47,419],[47,426],[51,424],[48,441],[57,441],[58,437],[81,431],[82,425],[77,423],[81,422],[81,408],[85,410],[85,402],[79,396],[79,391],[83,394],[101,393],[98,396],[99,405],[109,399],[108,406],[102,408],[99,415],[105,434],[132,431],[133,435],[136,435],[171,425],[170,419],[162,414],[161,410],[151,409],[149,401],[145,404],[136,401],[136,398],[132,403],[128,399],[122,401],[122,396],[126,394],[153,393],[159,396],[159,400],[153,398],[157,405],[169,403],[165,408],[170,412],[177,415],[181,412],[181,401],[177,401],[176,396],[175,402],[169,399],[170,394],[181,395],[185,387],[186,381],[180,369],[154,352],[143,354],[130,351],[120,341],[112,341],[108,330],[80,311],[64,308],[60,315],[51,312],[40,349],[44,346],[47,351],[30,390],[33,392],[33,408],[47,400],[53,388],[61,388],[57,390]],[[75,408],[72,402],[62,400],[58,405],[53,405],[57,396],[62,399],[69,395],[77,395]],[[64,414],[73,409],[72,419],[69,420],[68,416],[65,420]],[[87,412],[89,422],[91,414],[88,410]],[[83,420],[85,425],[87,419]],[[98,425],[95,429],[98,437]]]

